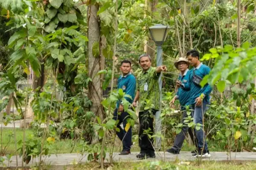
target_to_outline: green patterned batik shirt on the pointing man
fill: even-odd
[[[140,91],[139,108],[140,112],[144,111],[146,106],[146,99],[151,101],[151,109],[159,110],[160,108],[160,90],[158,85],[158,79],[160,73],[157,74],[156,68],[150,67],[147,71],[140,71],[137,76],[137,90]],[[146,91],[145,85],[148,85]]]

